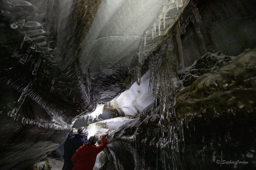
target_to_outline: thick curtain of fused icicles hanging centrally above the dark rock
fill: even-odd
[[[172,106],[174,96],[179,89],[172,36],[161,46],[158,53],[150,57],[150,70],[148,90],[152,89],[154,77],[153,95],[155,99],[159,100],[161,113],[163,113],[166,108]]]

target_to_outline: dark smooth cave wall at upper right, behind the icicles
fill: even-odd
[[[186,24],[186,33],[181,34],[186,67],[207,52],[227,51],[237,56],[256,46],[253,29],[256,27],[255,1],[205,0],[195,1],[195,4],[201,20],[191,20],[194,7],[190,4],[186,9],[191,10],[186,10],[180,21],[181,25]]]

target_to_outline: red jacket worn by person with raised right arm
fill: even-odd
[[[72,170],[93,170],[96,157],[106,147],[106,138],[101,136],[100,146],[89,145],[84,143],[79,149],[75,151],[72,157],[74,168]]]

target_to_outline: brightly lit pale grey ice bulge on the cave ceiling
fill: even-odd
[[[188,0],[102,1],[78,50],[83,70],[90,68],[90,62],[98,64],[92,69],[114,70],[136,55],[143,63],[145,56],[162,43],[187,3]]]

